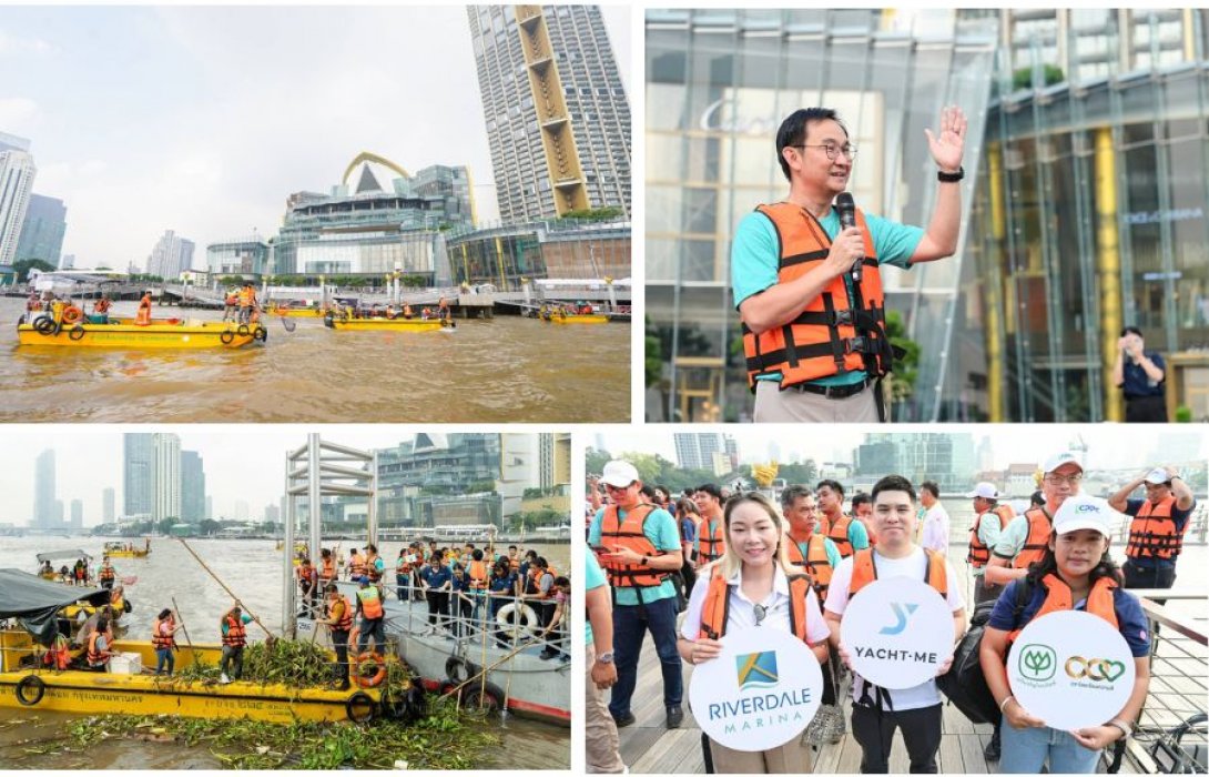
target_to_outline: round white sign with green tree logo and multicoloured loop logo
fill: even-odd
[[[1036,618],[1007,654],[1016,701],[1060,731],[1099,726],[1121,712],[1134,674],[1134,657],[1121,632],[1076,610]]]

